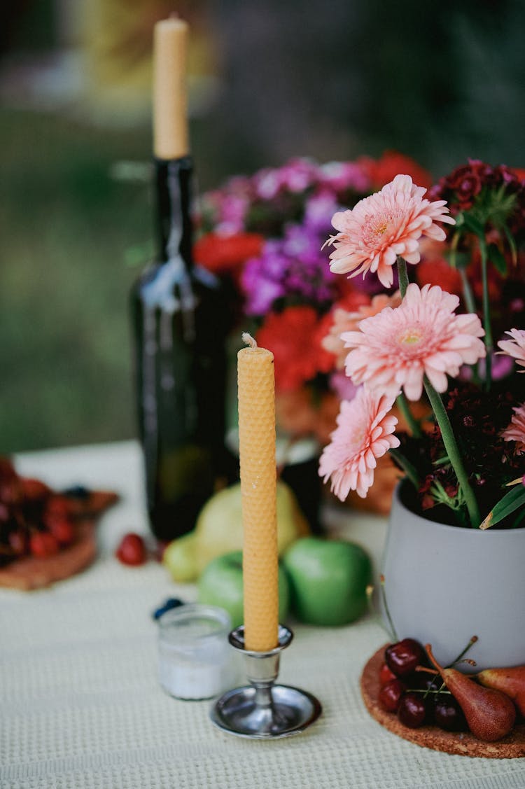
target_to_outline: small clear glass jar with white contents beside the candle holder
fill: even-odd
[[[238,660],[228,642],[231,619],[223,608],[189,603],[159,619],[159,680],[163,690],[187,701],[230,690]]]

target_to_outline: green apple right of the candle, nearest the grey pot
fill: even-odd
[[[283,555],[291,611],[300,622],[338,626],[366,611],[372,563],[360,545],[302,537]]]

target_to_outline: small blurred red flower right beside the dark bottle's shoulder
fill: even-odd
[[[257,257],[263,244],[264,238],[258,233],[207,233],[193,246],[193,257],[204,268],[219,274],[237,268],[249,257]]]

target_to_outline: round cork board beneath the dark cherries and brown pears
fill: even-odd
[[[492,759],[525,756],[525,724],[518,724],[510,735],[497,742],[482,742],[469,732],[443,731],[437,726],[422,726],[418,729],[403,726],[393,712],[385,712],[377,701],[380,689],[379,670],[383,661],[384,646],[369,659],[361,675],[361,692],[366,709],[381,726],[422,748],[441,750],[444,753]]]

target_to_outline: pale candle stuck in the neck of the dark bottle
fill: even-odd
[[[186,95],[187,22],[176,16],[153,33],[153,152],[157,159],[189,153]]]

